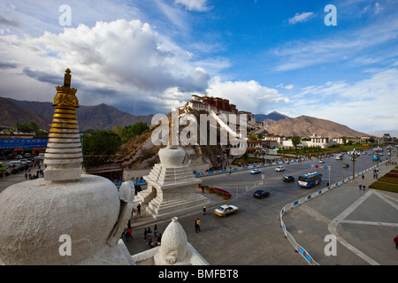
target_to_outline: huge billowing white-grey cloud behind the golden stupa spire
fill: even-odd
[[[144,114],[170,111],[165,100],[172,91],[181,94],[204,92],[210,75],[198,67],[186,50],[157,34],[142,21],[118,19],[97,22],[94,27],[80,25],[63,33],[20,39],[0,36],[2,96],[28,99],[30,95],[50,101],[49,91],[63,82],[64,70],[72,70],[73,85],[79,89],[83,105],[108,103],[124,111]],[[202,62],[203,63],[203,62]],[[174,101],[175,99],[173,99]],[[181,99],[180,99],[181,101]],[[129,108],[130,107],[130,108]],[[148,112],[149,111],[149,112]]]

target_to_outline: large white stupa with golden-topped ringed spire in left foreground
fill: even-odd
[[[0,194],[0,264],[134,264],[120,235],[134,185],[81,175],[76,88],[57,87],[44,178]]]

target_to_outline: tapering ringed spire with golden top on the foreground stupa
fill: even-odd
[[[44,155],[44,180],[80,180],[83,162],[76,108],[77,89],[71,88],[71,70],[65,70],[64,86],[57,86],[53,106],[56,107]]]

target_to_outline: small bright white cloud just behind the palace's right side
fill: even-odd
[[[290,102],[277,89],[261,86],[256,80],[221,81],[219,77],[215,77],[210,80],[207,93],[209,96],[229,99],[239,110],[256,114],[270,111],[271,105]]]

